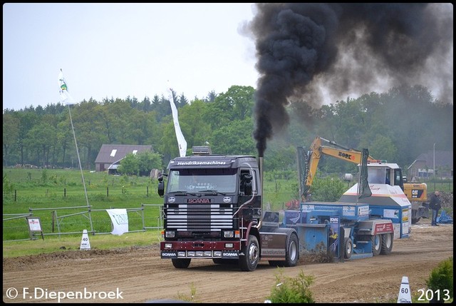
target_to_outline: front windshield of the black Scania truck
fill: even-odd
[[[178,169],[170,170],[167,192],[234,193],[237,185],[236,169]]]

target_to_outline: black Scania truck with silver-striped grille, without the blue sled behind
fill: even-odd
[[[237,263],[253,271],[260,260],[294,266],[299,240],[294,228],[279,226],[278,214],[262,213],[262,179],[251,155],[210,154],[193,147],[193,155],[170,160],[164,197],[160,256],[176,268],[192,259]]]

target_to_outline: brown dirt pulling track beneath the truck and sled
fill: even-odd
[[[411,237],[394,240],[390,255],[336,263],[316,263],[284,268],[296,277],[301,270],[314,276],[316,302],[388,302],[396,300],[403,276],[412,295],[425,288],[437,264],[453,255],[453,225],[431,227],[429,219],[412,225]],[[254,272],[237,266],[193,260],[186,270],[160,259],[157,245],[150,248],[67,251],[51,255],[3,259],[4,302],[57,302],[53,292],[116,292],[122,298],[97,297],[61,302],[150,302],[190,297],[195,302],[263,303],[275,285],[277,269],[260,262]],[[8,290],[13,287],[14,290]],[[24,295],[24,287],[31,294]],[[33,292],[38,294],[35,299]],[[19,292],[11,299],[7,295]],[[46,298],[46,290],[48,298]],[[25,297],[25,299],[24,299]],[[90,297],[86,294],[86,297]]]

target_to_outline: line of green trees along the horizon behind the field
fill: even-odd
[[[192,146],[207,143],[213,153],[257,155],[252,137],[254,93],[252,86],[231,86],[227,92],[210,92],[206,98],[190,101],[183,93],[172,91],[187,155]],[[438,101],[423,86],[398,86],[320,108],[309,109],[300,102],[304,101],[289,103],[288,125],[268,142],[265,170],[296,170],[296,146],[309,148],[316,136],[347,148],[368,148],[374,158],[403,168],[420,153],[432,150],[434,143],[439,150],[452,150],[452,103]],[[160,155],[162,167],[179,155],[168,98],[90,98],[72,106],[56,103],[19,111],[5,109],[4,167],[78,168],[68,107],[85,169],[95,168],[103,144],[150,145]],[[320,168],[326,173],[344,173],[353,170],[353,165],[322,158]]]

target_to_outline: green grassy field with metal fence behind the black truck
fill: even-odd
[[[86,190],[80,170],[3,169],[4,257],[48,253],[63,246],[77,249],[84,229],[90,240],[97,242],[97,248],[160,240],[157,228],[161,226],[163,199],[157,195],[157,180],[89,171],[84,171],[83,177]],[[264,190],[265,203],[279,210],[296,198],[297,180],[266,178]],[[126,234],[99,235],[113,230],[105,211],[110,208],[128,210],[128,239]],[[44,242],[41,233],[33,233],[31,240],[27,215],[40,219]]]

